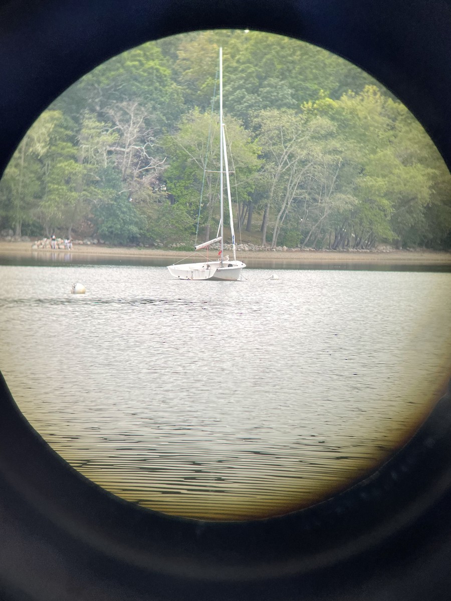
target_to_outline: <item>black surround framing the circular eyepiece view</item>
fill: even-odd
[[[0,172],[70,84],[208,28],[298,37],[375,76],[451,164],[451,6],[420,0],[14,0],[0,8]],[[38,436],[0,379],[0,599],[449,599],[451,390],[372,477],[283,517],[203,522],[121,501]]]

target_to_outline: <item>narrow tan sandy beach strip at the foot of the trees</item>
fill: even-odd
[[[0,240],[0,255],[16,255],[23,257],[39,257],[40,255],[62,254],[68,251],[51,249],[31,249],[31,242],[7,242]],[[141,257],[153,259],[172,259],[188,257],[189,252],[165,251],[155,248],[127,248],[108,245],[76,245],[73,246],[72,256],[91,255],[102,258]],[[390,251],[390,252],[343,252],[343,251],[249,251],[237,253],[237,258],[244,261],[272,261],[275,263],[296,262],[327,262],[327,263],[390,263],[390,264],[422,264],[422,265],[451,265],[451,252],[434,251]],[[250,265],[251,266],[251,265]]]

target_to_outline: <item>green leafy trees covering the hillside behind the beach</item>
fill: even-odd
[[[219,46],[243,240],[451,248],[451,177],[410,112],[325,50],[241,30],[144,44],[69,88],[5,171],[0,230],[163,246],[214,235]]]

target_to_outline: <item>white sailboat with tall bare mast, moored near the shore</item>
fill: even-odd
[[[216,238],[207,240],[202,244],[198,244],[194,247],[195,251],[208,248],[210,245],[220,242],[221,249],[218,252],[218,258],[209,261],[201,261],[200,263],[176,263],[169,265],[168,270],[174,278],[177,279],[212,279],[212,280],[226,280],[226,281],[237,281],[241,278],[242,270],[246,266],[242,261],[236,259],[236,246],[235,246],[235,229],[233,227],[233,213],[232,213],[232,197],[230,195],[230,177],[229,177],[229,160],[227,159],[227,145],[225,144],[225,128],[224,128],[224,115],[222,114],[222,48],[219,48],[219,155],[220,155],[220,166],[219,166],[219,181],[220,181],[220,206],[221,206],[221,219],[219,221],[218,234]],[[230,232],[232,234],[232,249],[233,259],[229,258],[229,255],[224,256],[224,175],[227,189],[227,200],[229,202],[229,215],[230,215]],[[220,235],[219,235],[220,233]]]

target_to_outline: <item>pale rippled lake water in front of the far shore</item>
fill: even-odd
[[[305,507],[387,459],[440,397],[451,274],[244,273],[0,266],[0,369],[41,436],[129,501],[207,519]]]

